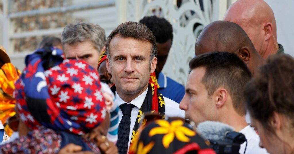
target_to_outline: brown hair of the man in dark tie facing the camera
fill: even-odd
[[[105,47],[106,47],[106,54],[109,60],[110,60],[109,43],[116,34],[119,34],[120,36],[126,37],[126,38],[130,37],[137,40],[150,42],[152,44],[150,62],[152,58],[156,56],[157,45],[156,45],[155,36],[153,35],[152,31],[149,28],[147,28],[145,25],[143,25],[142,23],[128,21],[118,25],[107,37]]]

